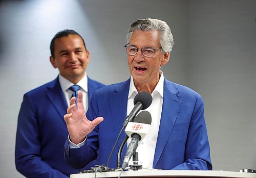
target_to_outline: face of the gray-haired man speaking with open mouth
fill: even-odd
[[[136,30],[131,36],[130,45],[137,48],[157,49],[161,47],[159,32]],[[153,92],[160,79],[160,66],[168,62],[169,52],[163,54],[160,48],[156,50],[153,57],[145,57],[139,50],[135,56],[128,55],[127,58],[136,88],[146,86],[147,90],[150,90],[149,92]]]

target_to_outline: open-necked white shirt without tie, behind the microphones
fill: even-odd
[[[163,72],[157,83],[155,90],[152,92],[153,101],[150,107],[145,109],[151,113],[152,122],[151,127],[140,145],[137,147],[137,152],[139,155],[138,164],[142,165],[144,168],[153,168],[153,161],[155,155],[155,149],[157,144],[157,136],[159,131],[160,119],[162,114],[163,106],[163,84],[164,77]],[[138,94],[137,89],[135,88],[133,77],[131,76],[129,95],[127,100],[127,114],[129,114],[134,107],[134,97]],[[127,145],[131,142],[131,139],[127,140]],[[129,165],[133,164],[132,158],[129,162]]]

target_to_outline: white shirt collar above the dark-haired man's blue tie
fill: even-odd
[[[88,92],[88,83],[87,83],[87,74],[83,76],[83,78],[77,82],[76,85],[79,85],[84,91]],[[72,82],[70,82],[68,79],[64,78],[61,74],[59,74],[59,84],[61,87],[62,92],[66,92],[69,87],[74,85]]]

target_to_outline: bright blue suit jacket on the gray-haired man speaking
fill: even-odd
[[[81,148],[70,149],[65,143],[66,161],[83,167],[98,157],[106,164],[111,149],[126,118],[130,79],[97,90],[87,112],[89,119],[104,117]],[[153,168],[211,170],[210,148],[204,119],[202,97],[195,91],[164,79],[163,107]],[[116,167],[117,151],[125,137],[123,132],[109,167]],[[126,146],[124,152],[126,152]],[[123,156],[122,156],[123,158]]]

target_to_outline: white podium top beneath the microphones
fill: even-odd
[[[97,172],[96,177],[118,177],[120,171],[116,172]],[[71,174],[70,178],[94,178],[94,173]],[[239,177],[256,178],[256,173],[230,172],[214,170],[138,170],[123,171],[121,177]]]

